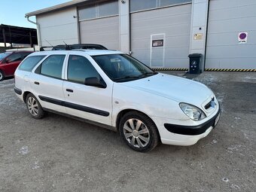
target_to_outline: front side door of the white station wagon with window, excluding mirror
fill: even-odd
[[[101,81],[106,84],[105,88],[87,86],[84,85],[85,78],[102,79],[102,76],[87,57],[69,55],[67,81],[63,84],[67,113],[111,125],[113,84],[102,79]]]

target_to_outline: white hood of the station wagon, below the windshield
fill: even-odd
[[[201,107],[202,103],[213,94],[206,85],[197,81],[161,73],[148,78],[125,82],[123,85],[197,107]]]

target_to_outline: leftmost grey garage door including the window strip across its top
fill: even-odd
[[[118,0],[95,2],[78,8],[80,40],[84,44],[102,44],[119,50]]]

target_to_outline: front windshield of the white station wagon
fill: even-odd
[[[115,82],[134,81],[156,75],[157,72],[126,54],[93,56],[106,75]]]

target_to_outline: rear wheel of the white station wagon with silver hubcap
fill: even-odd
[[[38,99],[35,98],[32,93],[29,93],[26,96],[26,108],[29,111],[29,114],[35,119],[41,119],[44,117],[44,110],[41,107]]]

